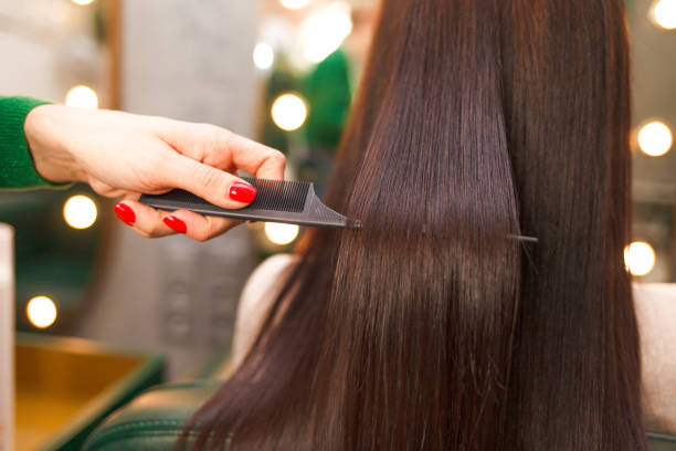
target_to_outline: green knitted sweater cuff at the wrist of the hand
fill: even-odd
[[[66,187],[52,183],[35,170],[23,132],[25,116],[49,102],[29,97],[0,97],[0,188]]]

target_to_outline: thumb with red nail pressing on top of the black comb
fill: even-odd
[[[167,161],[163,181],[228,209],[244,208],[256,197],[256,189],[241,178],[180,154]]]

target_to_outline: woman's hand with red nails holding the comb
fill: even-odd
[[[223,208],[246,207],[255,188],[236,177],[283,179],[285,158],[270,147],[208,124],[112,111],[43,105],[25,119],[35,169],[53,182],[84,181],[107,197],[120,220],[144,237],[173,232],[204,241],[241,223],[139,203],[141,193],[181,188]]]

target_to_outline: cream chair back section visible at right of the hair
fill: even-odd
[[[646,428],[676,434],[676,284],[636,284]]]

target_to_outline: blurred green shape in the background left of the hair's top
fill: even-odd
[[[351,103],[350,71],[347,54],[337,50],[309,74],[303,91],[309,104],[305,126],[311,148],[335,150],[340,143]]]

